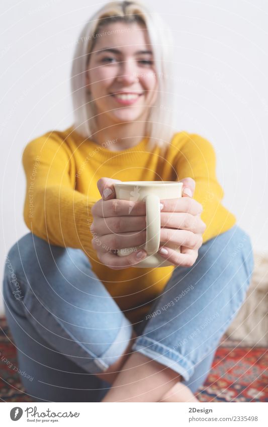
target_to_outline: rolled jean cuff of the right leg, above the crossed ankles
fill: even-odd
[[[167,366],[182,375],[185,381],[188,381],[194,373],[195,365],[189,359],[147,336],[139,336],[132,350]]]

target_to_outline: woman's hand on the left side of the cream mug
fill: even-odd
[[[93,248],[97,251],[101,263],[113,270],[131,267],[147,255],[144,249],[133,251],[123,257],[116,254],[118,249],[139,246],[146,242],[145,202],[115,199],[113,184],[120,182],[101,178],[97,186],[102,199],[98,200],[91,210]]]

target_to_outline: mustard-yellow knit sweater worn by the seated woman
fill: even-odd
[[[121,151],[109,150],[82,138],[69,127],[30,141],[23,152],[27,178],[24,220],[27,227],[50,244],[82,249],[126,317],[139,322],[170,278],[173,266],[112,270],[101,264],[92,248],[91,207],[101,195],[102,177],[121,181],[196,181],[194,199],[203,205],[207,228],[203,243],[230,229],[235,216],[221,203],[224,192],[216,177],[216,156],[205,138],[174,133],[165,155],[146,150],[148,138]],[[182,267],[183,268],[183,267]]]

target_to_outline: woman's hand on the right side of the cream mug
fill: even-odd
[[[206,224],[200,215],[203,206],[194,200],[193,194],[196,183],[192,178],[185,178],[183,183],[183,197],[177,199],[162,199],[161,233],[158,253],[175,266],[192,267],[198,257],[198,249],[202,246]],[[190,190],[185,193],[185,190]],[[181,247],[181,253],[165,246],[163,242],[170,242]],[[165,249],[166,253],[161,253]]]

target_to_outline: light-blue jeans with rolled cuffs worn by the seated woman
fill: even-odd
[[[3,292],[27,393],[35,401],[101,401],[110,384],[95,374],[122,355],[133,327],[132,349],[197,391],[245,298],[253,265],[250,238],[235,225],[203,243],[192,267],[175,267],[133,326],[82,250],[26,234],[7,255]]]

